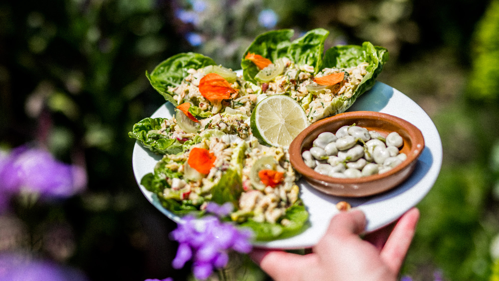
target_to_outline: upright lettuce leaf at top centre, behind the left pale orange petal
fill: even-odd
[[[241,59],[241,68],[243,68],[243,78],[256,84],[254,76],[260,69],[245,56],[251,52],[274,61],[279,57],[286,56],[291,42],[289,39],[293,36],[293,29],[272,30],[258,35],[250,44]]]

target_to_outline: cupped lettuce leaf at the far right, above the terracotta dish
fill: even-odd
[[[383,65],[388,61],[388,50],[384,47],[374,46],[371,42],[364,42],[359,45],[337,45],[329,48],[324,54],[320,70],[326,67],[348,68],[355,67],[361,62],[368,62],[367,74],[364,76],[352,97],[335,97],[325,110],[330,111],[330,115],[344,112],[353,102],[364,92],[368,91],[376,83],[376,77],[383,69]]]

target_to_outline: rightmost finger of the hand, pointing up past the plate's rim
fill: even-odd
[[[392,272],[397,273],[400,270],[400,266],[414,237],[418,219],[419,210],[417,208],[412,208],[404,213],[393,228],[385,246],[380,252],[381,259]]]

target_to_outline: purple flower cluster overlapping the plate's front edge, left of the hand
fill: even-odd
[[[212,208],[220,207],[223,206]],[[215,216],[195,219],[187,215],[184,221],[171,233],[172,238],[180,243],[172,264],[174,268],[180,269],[192,259],[194,276],[198,279],[205,280],[214,268],[225,267],[229,262],[230,250],[245,253],[251,250],[250,230],[238,229],[234,224],[222,222]]]

